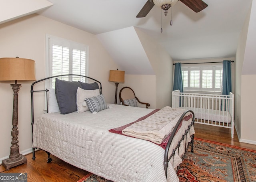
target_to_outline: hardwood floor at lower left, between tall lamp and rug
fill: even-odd
[[[32,154],[26,155],[28,162],[4,171],[4,173],[27,173],[28,182],[77,182],[87,171],[76,168],[51,155],[52,162],[47,163],[48,154],[43,150],[36,151],[36,160]],[[0,171],[5,170],[0,166]]]

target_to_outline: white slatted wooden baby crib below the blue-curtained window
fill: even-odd
[[[172,107],[191,109],[195,113],[195,123],[214,125],[231,129],[234,137],[234,94],[201,94],[172,91]]]

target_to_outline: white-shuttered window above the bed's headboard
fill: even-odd
[[[64,74],[76,74],[88,76],[88,46],[57,38],[46,36],[46,75],[56,76]],[[84,77],[63,77],[69,81],[84,81]],[[51,85],[51,86],[50,86]],[[53,79],[49,86],[54,88]]]

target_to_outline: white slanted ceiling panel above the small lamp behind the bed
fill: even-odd
[[[134,27],[98,34],[118,69],[130,75],[154,75],[150,61]]]

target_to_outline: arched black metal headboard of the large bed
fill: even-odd
[[[84,76],[84,75],[76,75],[76,74],[66,74],[66,75],[57,75],[57,76],[52,76],[52,77],[47,77],[47,78],[44,78],[44,79],[40,79],[40,80],[37,80],[35,81],[34,83],[32,83],[31,85],[31,125],[32,125],[32,134],[33,134],[33,125],[34,125],[34,92],[46,92],[46,110],[47,110],[47,113],[48,113],[48,91],[49,89],[45,89],[45,90],[34,90],[34,85],[36,83],[39,83],[39,82],[42,82],[42,81],[46,81],[46,80],[49,80],[49,79],[52,79],[52,78],[55,78],[55,77],[64,77],[64,76],[78,76],[78,77],[84,77],[85,79],[87,79],[88,81],[96,81],[100,86],[99,86],[99,89],[100,89],[100,94],[102,94],[102,85],[100,83],[100,81],[94,79],[94,78],[91,78],[91,77],[87,77],[87,76]]]

